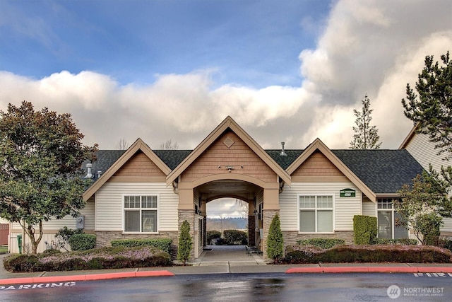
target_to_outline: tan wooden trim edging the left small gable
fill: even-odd
[[[105,173],[103,173],[100,178],[93,183],[93,185],[88,187],[88,190],[83,193],[83,200],[87,201],[88,199],[90,199],[90,197],[92,197],[95,192],[97,192],[97,190],[99,190],[100,187],[105,184],[105,182],[111,179],[114,173],[117,173],[117,171],[124,164],[126,164],[127,161],[129,161],[129,159],[131,159],[138,150],[141,150],[143,153],[145,153],[145,155],[148,156],[148,158],[153,161],[153,163],[155,163],[155,165],[157,165],[157,167],[162,170],[165,175],[168,175],[169,172],[171,172],[168,166],[157,155],[155,155],[155,153],[149,148],[147,144],[145,144],[141,139],[137,139],[132,144],[132,146],[130,146],[129,149],[127,149],[127,151],[124,152],[124,154],[119,157],[117,161],[115,161],[108,168],[108,170],[105,171]]]

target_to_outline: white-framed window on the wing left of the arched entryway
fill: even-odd
[[[124,196],[124,231],[157,232],[157,195]]]

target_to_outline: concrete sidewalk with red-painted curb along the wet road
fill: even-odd
[[[211,250],[209,250],[211,248]],[[6,254],[7,255],[7,254]],[[452,264],[432,263],[325,263],[310,265],[271,265],[261,255],[247,255],[244,247],[208,246],[195,262],[187,266],[144,267],[134,269],[95,269],[89,271],[11,273],[3,267],[0,255],[0,286],[64,281],[88,281],[125,277],[162,277],[176,274],[240,273],[445,273],[452,277]]]

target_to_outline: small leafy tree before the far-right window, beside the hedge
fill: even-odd
[[[412,185],[403,185],[399,190],[401,199],[393,202],[401,216],[400,225],[411,227],[422,244],[433,244],[439,236],[443,221],[438,209],[448,201],[446,193],[430,177],[428,173],[417,175]]]

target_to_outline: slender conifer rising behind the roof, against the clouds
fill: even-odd
[[[379,130],[376,129],[376,126],[370,125],[372,120],[371,113],[374,110],[370,109],[370,100],[367,95],[364,96],[364,100],[361,102],[362,111],[353,110],[357,127],[353,127],[355,134],[353,135],[353,140],[350,141],[350,149],[379,149],[381,146],[381,142],[378,142],[380,139]]]

